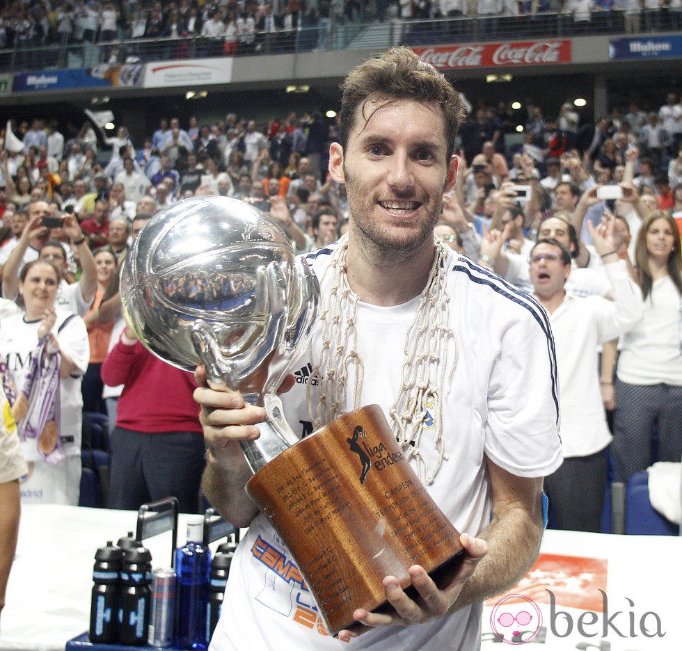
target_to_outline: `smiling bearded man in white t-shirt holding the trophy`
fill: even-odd
[[[474,650],[482,600],[513,586],[537,557],[543,477],[562,460],[553,339],[532,298],[434,239],[457,178],[463,117],[458,93],[409,49],[349,74],[329,163],[347,189],[349,232],[306,257],[321,287],[319,316],[301,371],[280,387],[298,437],[360,405],[381,406],[401,456],[457,531],[472,534],[459,538],[459,571],[437,586],[412,565],[405,590],[386,576],[390,607],[356,609],[356,625],[329,636],[283,540],[244,490],[252,471],[240,442],[259,437],[265,410],[209,383],[201,366],[205,494],[225,519],[249,527],[213,651],[342,641],[373,651]],[[375,472],[367,459],[392,463],[362,450],[363,479]]]

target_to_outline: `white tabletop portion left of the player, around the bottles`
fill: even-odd
[[[177,540],[187,539],[180,514]],[[22,506],[17,554],[0,619],[0,649],[63,651],[90,625],[90,590],[98,547],[135,531],[136,511],[58,504]],[[144,541],[152,565],[170,565],[171,534]]]

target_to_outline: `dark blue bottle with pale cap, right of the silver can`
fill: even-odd
[[[177,648],[205,651],[211,552],[203,544],[203,518],[187,522],[187,543],[175,550]]]

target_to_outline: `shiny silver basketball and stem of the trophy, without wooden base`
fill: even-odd
[[[271,218],[245,202],[196,197],[159,211],[134,241],[120,294],[140,341],[175,367],[262,406],[260,437],[242,441],[257,472],[298,439],[276,391],[308,342],[319,284]]]

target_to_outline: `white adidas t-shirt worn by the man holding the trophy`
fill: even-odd
[[[333,246],[307,257],[318,278]],[[546,476],[561,463],[553,340],[546,313],[532,297],[452,251],[445,264],[449,325],[456,333],[459,354],[450,391],[443,397],[447,460],[427,490],[458,531],[475,534],[491,515],[486,455],[524,477]],[[328,279],[322,281],[323,295],[328,284]],[[360,404],[377,403],[388,413],[395,401],[402,384],[406,331],[418,300],[395,307],[358,304],[356,349],[365,367]],[[313,351],[319,346],[317,332]],[[301,369],[294,370],[301,381],[282,396],[287,421],[297,436],[312,431],[305,380],[310,359],[310,351],[303,351],[294,367]],[[350,401],[346,408],[353,408]],[[425,432],[420,451],[433,469],[435,415],[429,405],[421,413]],[[481,604],[425,624],[376,629],[346,645],[328,636],[300,574],[296,580],[298,572],[290,571],[291,563],[289,550],[267,518],[257,515],[232,561],[211,651],[479,648]]]

